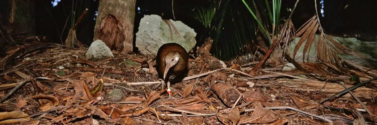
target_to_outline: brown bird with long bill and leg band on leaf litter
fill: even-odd
[[[165,43],[157,52],[157,72],[167,82],[167,93],[171,99],[170,82],[174,83],[184,77],[187,71],[189,54],[177,43]]]

